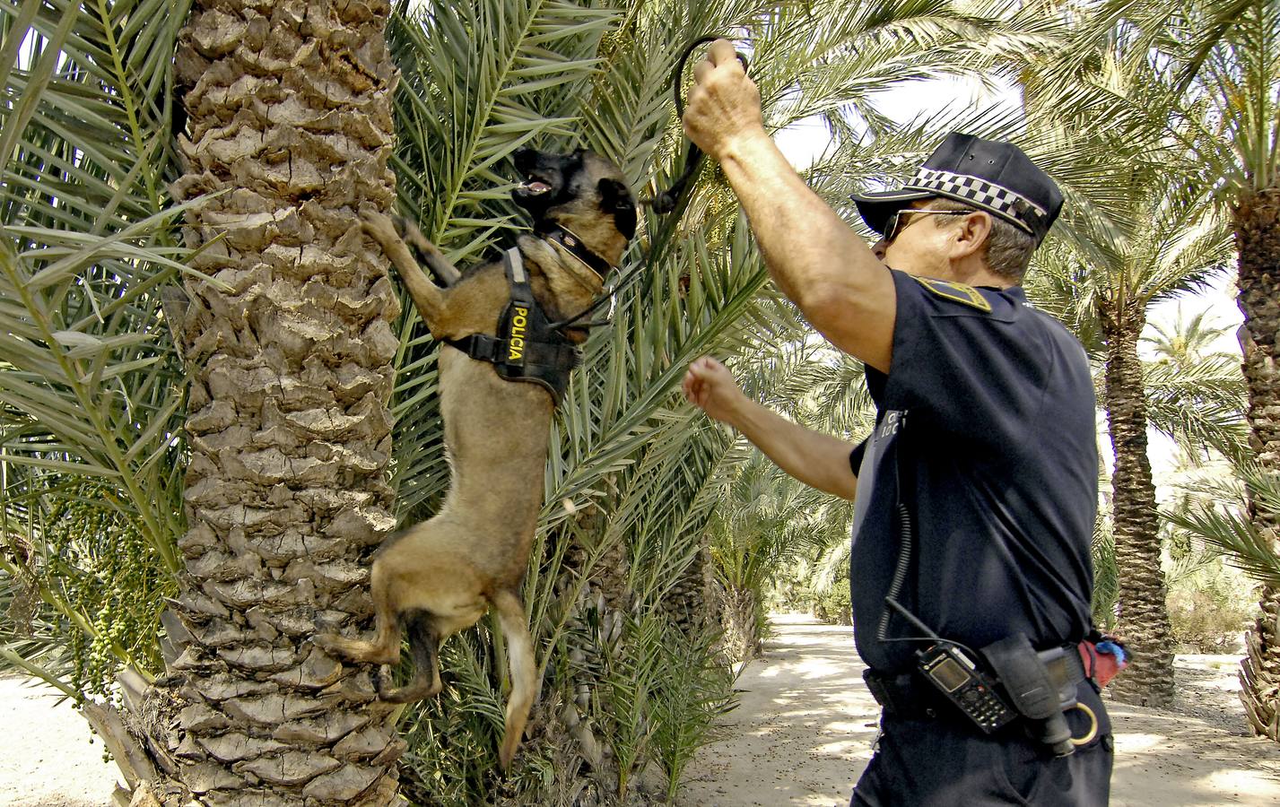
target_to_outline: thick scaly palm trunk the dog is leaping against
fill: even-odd
[[[168,675],[110,732],[137,803],[389,804],[396,737],[367,669],[308,643],[365,627],[399,306],[356,215],[387,208],[387,0],[201,3],[179,43],[177,200],[206,247],[174,324],[191,373],[182,592]],[[134,682],[136,683],[136,682]],[[154,799],[148,802],[147,799]]]

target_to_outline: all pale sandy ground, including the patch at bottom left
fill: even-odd
[[[876,702],[850,628],[776,615],[765,656],[748,665],[723,739],[690,766],[680,807],[849,803],[870,758]],[[1234,656],[1179,656],[1179,702],[1111,705],[1112,807],[1280,804],[1280,746],[1248,735]],[[0,677],[0,806],[106,807],[119,780],[69,702]]]

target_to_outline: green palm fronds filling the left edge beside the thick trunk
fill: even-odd
[[[186,384],[160,289],[191,271],[174,246],[186,208],[166,189],[178,175],[172,63],[187,10],[182,0],[0,3],[0,533],[10,550],[0,578],[38,602],[29,634],[6,624],[4,654],[81,692],[119,664],[159,669],[156,616],[179,568]],[[113,609],[127,641],[104,629]]]

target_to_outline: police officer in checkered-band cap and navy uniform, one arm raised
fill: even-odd
[[[1082,665],[1066,673],[1070,740],[1053,746],[1021,715],[980,728],[919,655],[1016,641],[1056,652],[1061,673],[1091,629],[1093,384],[1079,343],[1019,286],[1061,192],[1018,147],[952,134],[902,188],[852,197],[882,234],[868,248],[768,137],[728,42],[695,79],[685,132],[721,164],[774,283],[865,363],[877,407],[854,448],[748,399],[712,358],[684,381],[783,471],[856,503],[854,633],[883,711],[851,803],[1106,804],[1111,729]]]

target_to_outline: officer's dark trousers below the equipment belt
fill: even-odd
[[[1084,687],[1082,687],[1083,689]],[[1105,807],[1111,793],[1111,721],[1101,698],[1082,698],[1098,716],[1097,735],[1066,757],[1050,755],[1016,725],[986,735],[964,717],[904,720],[884,715],[876,753],[851,807]],[[1074,737],[1092,720],[1068,712]]]

